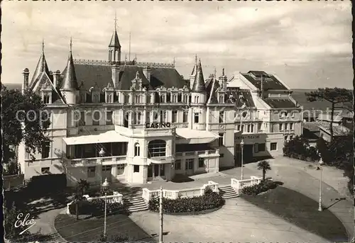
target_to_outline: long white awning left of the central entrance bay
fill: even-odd
[[[104,142],[129,142],[128,137],[124,137],[115,131],[107,131],[77,137],[64,137],[63,140],[67,145],[87,145]]]

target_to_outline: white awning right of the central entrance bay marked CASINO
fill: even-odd
[[[176,128],[178,139],[183,140],[178,143],[209,143],[217,140],[219,135],[206,130],[192,130],[190,128]]]

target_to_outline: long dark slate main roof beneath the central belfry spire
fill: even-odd
[[[97,65],[97,64],[75,64],[75,72],[77,75],[77,82],[79,85],[83,83],[83,89],[89,90],[95,83],[102,90],[107,84],[114,86],[112,81],[112,70],[109,65]],[[155,89],[159,86],[165,88],[182,88],[186,85],[185,80],[176,71],[176,69],[168,67],[151,67],[151,84],[143,74],[143,67],[127,65],[121,67],[119,74],[119,84],[117,89],[129,90],[132,86],[132,80],[136,78],[136,72],[139,73],[139,77],[142,79],[143,86],[146,86],[148,90]]]

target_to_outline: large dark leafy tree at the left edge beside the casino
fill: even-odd
[[[33,154],[41,153],[45,142],[50,139],[45,132],[50,126],[49,112],[40,96],[27,91],[21,94],[18,90],[1,87],[3,130],[3,163],[16,159],[16,148],[23,142],[31,159]]]

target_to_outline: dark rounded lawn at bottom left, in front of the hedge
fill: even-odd
[[[55,218],[55,229],[67,242],[98,242],[104,232],[104,217],[91,217],[75,220],[69,215]],[[126,215],[107,216],[107,236],[122,235],[129,237],[129,242],[156,242]]]

